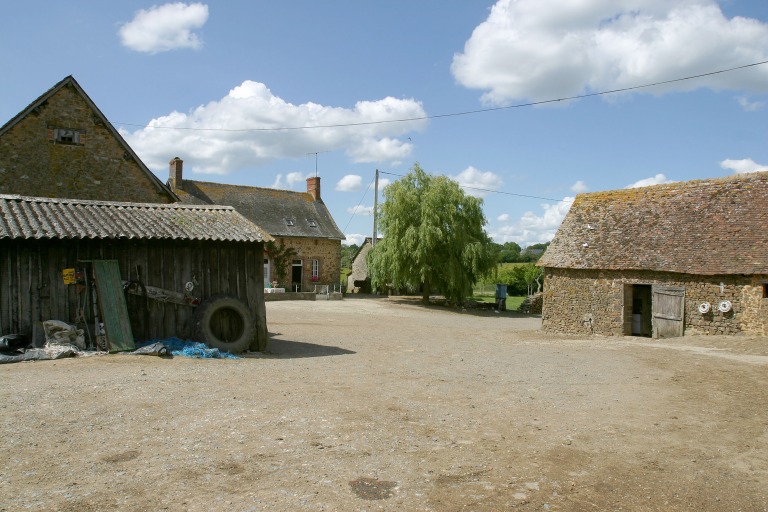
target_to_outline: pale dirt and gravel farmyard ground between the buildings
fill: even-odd
[[[268,354],[0,367],[0,510],[768,510],[768,339],[271,302]]]

